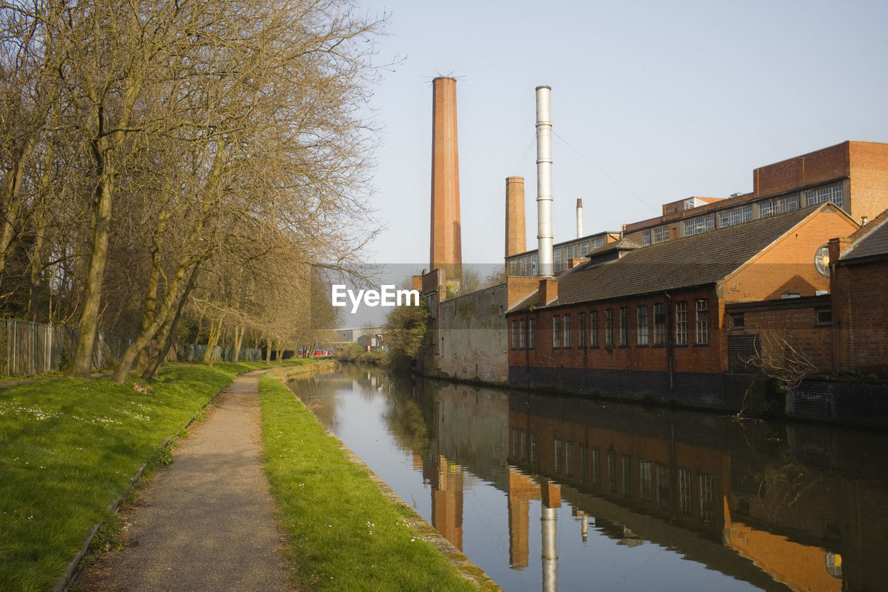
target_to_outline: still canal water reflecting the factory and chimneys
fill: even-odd
[[[345,367],[289,387],[504,590],[888,589],[888,437]]]

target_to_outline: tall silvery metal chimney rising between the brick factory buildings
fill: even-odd
[[[536,241],[538,276],[551,278],[552,260],[552,122],[551,88],[536,87]]]

